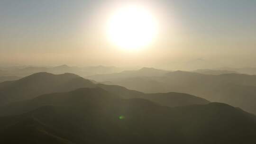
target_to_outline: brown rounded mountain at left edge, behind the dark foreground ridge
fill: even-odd
[[[93,86],[94,84],[91,81],[75,74],[54,75],[47,72],[39,72],[17,81],[0,83],[0,105],[31,99],[45,93],[70,91]]]

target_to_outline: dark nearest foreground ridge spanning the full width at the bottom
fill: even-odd
[[[101,88],[39,96],[0,117],[4,144],[254,144],[256,117],[222,103],[162,107]],[[11,108],[8,108],[8,110]]]

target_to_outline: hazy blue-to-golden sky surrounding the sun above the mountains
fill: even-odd
[[[151,45],[111,44],[119,6],[145,7],[159,23]],[[256,0],[0,0],[0,65],[116,65],[165,69],[256,67]]]

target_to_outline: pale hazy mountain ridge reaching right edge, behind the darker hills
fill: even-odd
[[[104,75],[112,85],[120,85],[130,90],[146,93],[181,92],[199,96],[215,102],[243,108],[256,114],[256,75],[227,73],[220,75],[201,74],[197,72],[175,71],[162,76],[126,76]],[[115,76],[116,75],[116,76]],[[119,77],[119,79],[115,79]],[[101,80],[100,76],[91,76],[93,80]],[[103,83],[105,83],[103,81]]]

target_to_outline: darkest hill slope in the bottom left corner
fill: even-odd
[[[4,144],[74,144],[34,117],[26,117],[0,132]]]

